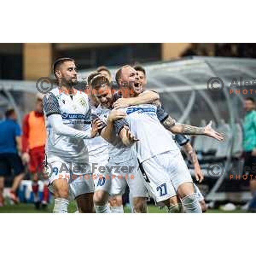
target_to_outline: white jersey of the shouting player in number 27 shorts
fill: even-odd
[[[157,118],[157,107],[151,104],[122,108],[132,134],[139,140],[136,151],[140,162],[167,151],[179,151],[172,134]]]

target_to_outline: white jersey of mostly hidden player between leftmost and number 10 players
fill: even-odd
[[[97,108],[101,108],[100,105],[96,108],[93,104],[89,104],[91,107],[91,113],[95,114]],[[88,147],[89,163],[107,163],[109,159],[109,144],[101,136],[96,136],[93,139],[85,139],[85,143]]]

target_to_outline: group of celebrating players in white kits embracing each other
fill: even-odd
[[[134,213],[147,212],[148,196],[169,213],[204,211],[204,198],[177,143],[190,157],[196,180],[201,182],[203,173],[185,135],[224,140],[211,123],[199,128],[172,119],[158,93],[146,90],[141,66],[117,70],[118,93],[105,67],[88,76],[88,95],[73,90],[78,74],[72,58],[57,59],[53,73],[58,87],[44,96],[43,105],[54,213],[67,213],[71,199],[76,200],[79,213],[123,213],[126,186]],[[119,172],[114,173],[113,167]]]

